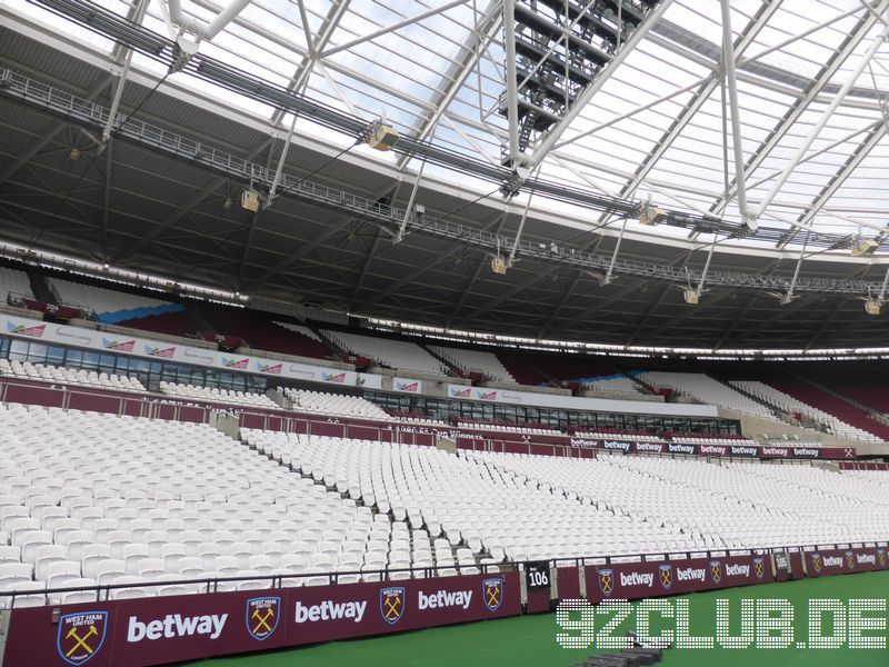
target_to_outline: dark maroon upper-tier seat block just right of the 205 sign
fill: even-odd
[[[201,308],[201,315],[218,332],[241,338],[254,349],[312,359],[324,359],[331,355],[317,336],[281,327],[253,310],[208,306]]]

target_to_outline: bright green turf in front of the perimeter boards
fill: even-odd
[[[766,584],[746,588],[732,588],[686,596],[689,599],[691,634],[715,636],[716,600],[730,600],[731,611],[737,616],[740,599],[785,598],[797,610],[795,639],[806,638],[806,608],[812,598],[836,598],[847,601],[852,598],[882,598],[889,596],[889,571],[803,579],[783,584]],[[873,617],[887,617],[887,613],[873,613]],[[657,620],[657,617],[655,617]],[[598,623],[598,621],[597,621]],[[667,627],[673,627],[668,621]],[[737,621],[730,626],[737,633]],[[659,628],[652,623],[652,633]],[[461,667],[568,667],[581,661],[595,651],[591,649],[565,649],[556,640],[563,631],[556,625],[555,614],[541,614],[483,623],[430,628],[376,637],[336,641],[302,648],[250,654],[230,658],[218,658],[190,663],[201,667],[320,667],[330,665],[360,665],[362,667],[420,667],[428,665],[460,665]],[[830,628],[826,629],[826,634]],[[577,635],[577,631],[571,634]],[[889,636],[889,631],[872,630],[873,636]],[[887,650],[852,649],[672,649],[661,663],[667,667],[870,667],[889,666]]]

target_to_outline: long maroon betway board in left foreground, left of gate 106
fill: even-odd
[[[130,667],[521,613],[517,573],[16,609],[4,667]]]

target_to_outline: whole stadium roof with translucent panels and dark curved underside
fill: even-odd
[[[171,12],[199,34],[222,3],[4,4],[2,237],[257,302],[470,330],[689,347],[885,345],[887,327],[862,300],[879,299],[886,259],[850,248],[857,238],[885,245],[888,4],[732,0],[737,86],[727,86],[720,3],[662,2],[509,201],[497,192],[509,137],[498,113],[502,1],[242,2],[201,40],[199,64],[172,74]],[[58,94],[41,101],[40,84]],[[727,100],[736,87],[746,197],[753,209],[768,203],[755,235],[739,233]],[[107,111],[118,89],[121,116],[106,141],[102,122],[78,116],[80,102]],[[78,103],[61,108],[64,93]],[[413,148],[354,146],[378,117]],[[172,139],[151,145],[152,128],[177,138],[174,150]],[[191,160],[188,142],[199,143]],[[273,205],[242,210],[253,175],[262,185],[281,161]],[[237,173],[234,162],[250,168]],[[367,202],[357,213],[339,195],[322,203],[303,192],[309,182],[380,202],[384,216]],[[675,213],[671,223],[636,220],[649,199]],[[402,216],[409,203],[426,218]],[[488,262],[509,255],[526,205],[516,262],[493,275]],[[409,223],[393,243],[399,218]],[[698,288],[700,303],[687,305],[683,290]]]

